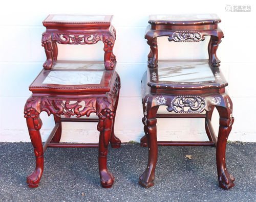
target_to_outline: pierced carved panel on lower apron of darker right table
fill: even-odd
[[[205,108],[205,99],[201,96],[176,96],[172,107],[176,113],[201,113]]]

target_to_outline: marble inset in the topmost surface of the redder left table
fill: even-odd
[[[105,15],[54,15],[52,21],[104,21]]]

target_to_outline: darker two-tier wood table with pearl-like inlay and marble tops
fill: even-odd
[[[154,186],[158,145],[162,146],[216,146],[219,186],[234,186],[225,163],[228,135],[234,118],[232,102],[225,87],[228,85],[216,56],[223,32],[215,14],[210,15],[152,15],[148,21],[145,38],[150,45],[148,68],[141,81],[145,136],[141,146],[148,146],[148,163],[140,176],[139,184],[145,188]],[[210,36],[208,60],[159,60],[157,37],[168,36],[169,41],[198,42]],[[157,114],[159,106],[167,106],[167,114]],[[220,115],[218,137],[211,124],[214,109]],[[158,142],[157,118],[204,118],[207,142]]]

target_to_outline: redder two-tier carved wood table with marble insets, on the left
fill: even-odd
[[[35,170],[27,177],[29,187],[37,187],[44,170],[44,153],[47,147],[99,147],[99,173],[101,185],[112,187],[114,176],[107,168],[109,142],[119,148],[121,141],[114,134],[120,78],[115,71],[116,57],[113,46],[116,37],[111,25],[112,15],[49,15],[42,34],[47,60],[44,69],[29,86],[32,95],[25,105],[29,135],[36,158]],[[104,43],[104,61],[57,61],[61,44]],[[53,114],[55,127],[45,144],[42,144],[40,113]],[[96,113],[96,118],[89,117]],[[75,117],[76,116],[76,117]],[[98,122],[99,143],[59,143],[63,121]]]

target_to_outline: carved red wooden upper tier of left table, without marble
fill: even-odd
[[[54,61],[57,61],[60,44],[95,44],[104,43],[104,64],[106,70],[114,68],[116,56],[113,47],[116,40],[116,30],[111,26],[113,16],[106,15],[104,21],[53,21],[54,15],[49,15],[42,23],[46,31],[42,34],[42,46],[45,47],[46,62],[44,68],[50,70]]]

